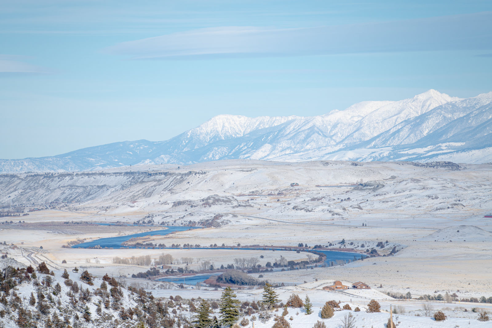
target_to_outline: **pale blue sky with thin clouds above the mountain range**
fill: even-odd
[[[0,158],[492,90],[491,1],[0,0]]]

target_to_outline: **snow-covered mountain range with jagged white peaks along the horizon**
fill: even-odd
[[[218,115],[167,141],[138,140],[41,158],[0,160],[0,172],[98,170],[221,159],[492,161],[492,92],[461,99],[429,90],[313,117]]]

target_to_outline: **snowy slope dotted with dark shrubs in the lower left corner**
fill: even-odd
[[[131,320],[140,322],[137,327],[172,328],[176,324],[176,317],[169,314],[168,306],[181,306],[179,302],[173,305],[172,301],[156,300],[151,293],[132,287],[128,287],[128,296],[125,298],[123,286],[107,274],[102,278],[99,288],[90,290],[86,286],[93,284],[94,279],[87,271],[80,274],[81,282],[77,283],[69,279],[70,276],[65,269],[62,274],[65,281],[62,286],[58,282],[55,283],[52,271],[49,271],[45,263],[41,263],[36,269],[37,274],[32,267],[8,267],[0,272],[1,318],[7,316],[13,324],[26,328],[80,328],[83,322],[93,322],[98,327],[107,324],[120,326],[119,322]],[[30,296],[28,294],[24,302],[15,289],[26,282],[31,284],[33,292]],[[62,295],[66,295],[67,298],[62,298]],[[130,298],[137,306],[128,307]],[[91,313],[89,303],[97,305],[95,313]],[[176,310],[174,311],[176,313]],[[118,315],[116,320],[110,315],[115,312]],[[185,324],[189,327],[188,321],[180,323],[180,326]]]

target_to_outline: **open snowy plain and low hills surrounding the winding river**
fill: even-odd
[[[476,313],[462,311],[474,307],[490,310],[490,303],[435,301],[435,309],[450,309],[446,310],[448,317],[462,317],[437,323],[428,317],[414,316],[422,315],[422,301],[396,300],[382,293],[410,292],[412,298],[445,293],[456,293],[459,298],[492,296],[492,224],[490,218],[484,217],[492,209],[491,171],[490,163],[224,160],[181,167],[152,165],[96,172],[2,175],[2,204],[11,204],[12,209],[41,210],[31,211],[28,216],[4,218],[25,223],[0,225],[0,241],[6,241],[0,247],[2,254],[8,253],[26,265],[34,267],[45,261],[56,272],[84,266],[97,276],[106,272],[128,276],[149,268],[114,264],[113,257],[150,255],[156,259],[167,253],[175,259],[192,258],[190,268],[198,268],[203,261],[217,267],[234,263],[238,257],[260,255],[262,266],[273,263],[280,255],[288,261],[301,261],[307,259],[308,253],[84,249],[62,248],[62,245],[76,239],[90,241],[154,231],[162,229],[159,228],[162,225],[184,225],[205,228],[132,242],[229,247],[238,243],[297,247],[304,243],[310,248],[332,243],[331,248],[364,254],[366,249],[376,248],[381,255],[396,247],[398,252],[392,256],[376,256],[333,267],[269,272],[262,279],[284,283],[285,287],[278,289],[284,302],[294,291],[302,298],[309,295],[315,307],[330,299],[362,308],[371,298],[376,298],[383,310],[388,310],[390,304],[404,302],[407,313],[399,314],[399,327],[491,327],[490,322],[478,322]],[[291,187],[291,183],[299,186]],[[72,221],[87,223],[78,225]],[[147,226],[91,225],[95,222]],[[339,243],[342,239],[344,244]],[[381,241],[383,247],[376,247]],[[62,263],[63,260],[67,263]],[[173,265],[182,266],[182,263]],[[258,277],[258,273],[252,275]],[[371,290],[347,293],[320,290],[334,280],[363,281]],[[173,284],[144,279],[127,279],[127,282],[147,286],[155,296],[178,293],[163,289],[176,288]],[[192,291],[179,293],[183,297],[191,293],[189,297],[195,298],[197,295],[217,298],[220,294],[206,288]],[[259,300],[260,294],[261,290],[246,290],[238,292],[238,297]],[[460,309],[453,311],[457,307]],[[318,310],[310,316],[294,312],[294,327],[311,328]],[[338,327],[340,313],[326,321],[328,327]],[[357,315],[357,327],[384,327],[387,320],[387,314],[354,315]],[[255,328],[272,324],[257,322]]]

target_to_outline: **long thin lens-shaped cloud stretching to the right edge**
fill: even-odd
[[[296,29],[217,27],[128,41],[105,49],[132,59],[266,57],[489,50],[492,12]]]

